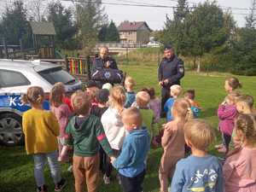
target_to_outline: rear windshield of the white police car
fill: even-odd
[[[62,70],[61,67],[50,68],[38,73],[50,84],[58,82],[62,82],[63,84],[73,84],[76,82],[76,79],[66,71]]]

